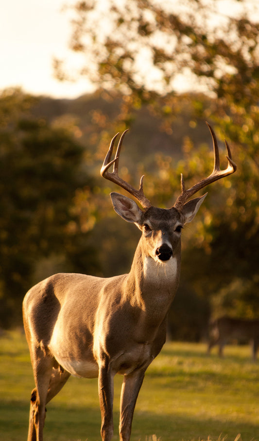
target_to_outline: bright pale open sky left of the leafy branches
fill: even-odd
[[[0,1],[0,90],[20,86],[24,92],[77,97],[88,92],[86,80],[62,83],[53,77],[52,57],[68,51],[69,0]]]

